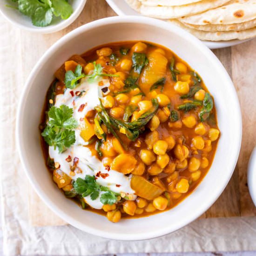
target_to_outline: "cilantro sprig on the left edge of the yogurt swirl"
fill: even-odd
[[[53,106],[48,111],[49,121],[41,133],[49,146],[57,147],[59,152],[64,152],[75,142],[74,129],[78,126],[73,118],[73,109],[66,105],[60,108]]]

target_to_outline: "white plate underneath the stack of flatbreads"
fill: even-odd
[[[132,9],[125,0],[106,0],[109,6],[117,13],[119,16],[122,15],[140,15],[141,13],[136,12]],[[207,47],[210,49],[218,49],[229,46],[234,46],[237,44],[242,44],[250,39],[245,40],[229,40],[229,41],[203,41],[201,40]]]

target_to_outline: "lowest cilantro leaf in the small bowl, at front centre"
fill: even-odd
[[[31,19],[34,26],[46,27],[52,22],[53,12],[50,7],[38,7]]]

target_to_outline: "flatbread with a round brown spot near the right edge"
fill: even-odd
[[[179,20],[191,25],[234,24],[256,19],[256,0],[243,0],[208,10],[204,13],[182,17]]]

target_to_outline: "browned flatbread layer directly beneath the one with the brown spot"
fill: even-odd
[[[238,31],[238,30],[244,30],[244,29],[256,27],[256,19],[242,22],[242,23],[223,24],[223,25],[222,24],[221,25],[215,25],[215,24],[192,25],[192,24],[188,24],[188,23],[183,23],[183,25],[186,27],[197,29],[197,30],[209,31],[209,32],[231,31],[231,30]]]

